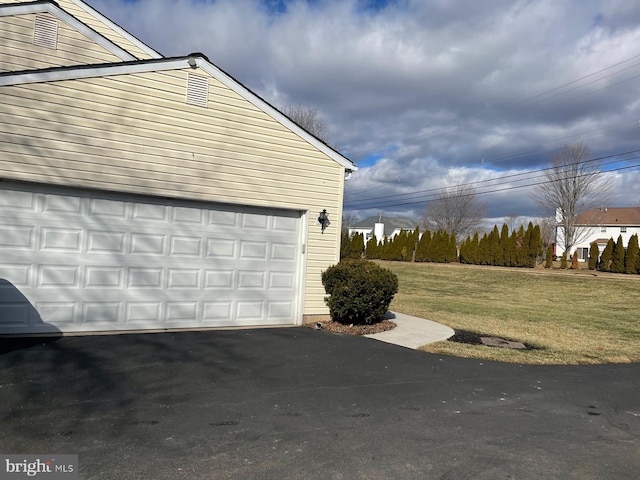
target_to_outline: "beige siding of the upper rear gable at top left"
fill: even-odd
[[[37,15],[58,24],[55,50],[33,44]],[[80,32],[50,14],[0,17],[0,71],[21,71],[48,67],[118,62],[120,59]]]

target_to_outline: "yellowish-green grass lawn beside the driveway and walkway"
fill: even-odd
[[[640,362],[640,275],[379,263],[398,276],[392,310],[540,348],[445,341],[424,351],[533,364]]]

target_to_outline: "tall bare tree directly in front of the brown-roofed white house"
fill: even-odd
[[[546,181],[536,186],[535,200],[555,217],[560,246],[568,254],[590,232],[577,228],[576,218],[587,209],[604,204],[609,183],[600,175],[600,164],[583,143],[567,145],[551,157]]]

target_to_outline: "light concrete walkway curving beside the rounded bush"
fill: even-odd
[[[455,332],[441,323],[412,317],[404,313],[389,312],[385,318],[396,323],[396,328],[387,332],[365,335],[381,342],[393,343],[402,347],[416,349],[428,343],[440,342]]]

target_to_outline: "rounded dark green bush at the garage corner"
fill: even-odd
[[[344,325],[371,325],[382,320],[398,277],[367,260],[343,260],[322,272],[322,284],[331,318]]]

